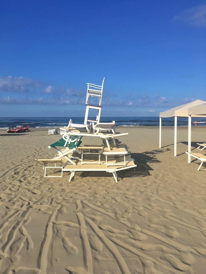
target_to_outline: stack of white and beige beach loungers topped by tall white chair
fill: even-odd
[[[100,122],[103,84],[104,79],[102,86],[87,83],[84,124],[74,124],[70,119],[67,127],[60,128],[62,138],[48,146],[56,151],[55,157],[37,160],[43,165],[45,177],[62,177],[63,172],[70,172],[70,182],[76,172],[96,171],[112,173],[118,182],[116,172],[136,167],[128,147],[117,139],[128,133],[116,133],[115,121]],[[97,99],[96,105],[94,101],[89,104],[90,97]],[[96,119],[88,118],[90,108],[97,110]],[[100,144],[81,146],[83,137],[98,138]],[[47,169],[59,169],[61,173],[47,175]]]

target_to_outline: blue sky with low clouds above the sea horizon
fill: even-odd
[[[158,116],[206,100],[206,1],[3,1],[0,116]]]

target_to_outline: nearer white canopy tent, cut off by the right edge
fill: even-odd
[[[206,102],[188,109],[188,152],[191,152],[191,117],[206,116]],[[191,163],[191,155],[188,154],[188,163]]]

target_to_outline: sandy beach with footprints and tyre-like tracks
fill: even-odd
[[[205,273],[206,169],[187,163],[187,127],[177,157],[173,127],[162,128],[161,149],[158,127],[118,128],[137,164],[118,183],[92,172],[44,178],[35,158],[53,157],[47,146],[61,138],[47,130],[0,131],[0,274]],[[205,127],[192,127],[192,151],[204,141]]]

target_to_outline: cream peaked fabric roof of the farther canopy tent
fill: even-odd
[[[171,108],[169,110],[160,112],[160,117],[162,118],[166,118],[166,117],[174,117],[174,116],[178,116],[178,117],[188,117],[188,109],[189,108],[193,108],[193,107],[197,107],[198,105],[205,105],[205,109],[206,109],[206,102],[202,101],[202,100],[195,100],[193,102],[181,105],[181,106],[176,106],[175,108]],[[190,114],[192,115],[192,114]],[[195,114],[193,114],[195,115]],[[197,114],[196,114],[197,115]]]

